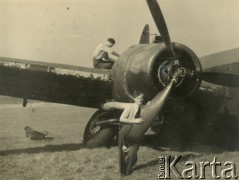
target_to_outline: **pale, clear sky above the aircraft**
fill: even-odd
[[[158,0],[171,40],[199,57],[239,47],[239,0]],[[145,0],[0,0],[0,56],[92,67],[108,37],[122,53],[149,24]]]

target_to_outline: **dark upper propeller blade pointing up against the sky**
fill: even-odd
[[[172,46],[172,43],[170,40],[168,28],[167,28],[166,22],[163,17],[163,13],[159,7],[157,0],[147,0],[147,3],[149,6],[151,15],[154,19],[154,22],[158,28],[158,31],[160,32],[160,34],[163,38],[163,41],[166,45],[166,48],[171,52],[172,56],[175,57],[176,55],[175,55],[175,52],[173,50],[173,46]]]

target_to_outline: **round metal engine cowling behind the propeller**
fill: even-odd
[[[177,71],[179,78],[171,97],[185,98],[195,92],[201,83],[190,72],[201,72],[201,64],[195,53],[179,43],[173,43],[177,60],[173,60],[164,43],[140,44],[126,49],[113,67],[113,97],[128,102],[134,90],[151,100],[170,81]]]

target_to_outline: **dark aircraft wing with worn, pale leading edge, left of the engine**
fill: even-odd
[[[112,99],[110,70],[0,57],[0,95],[99,107]],[[25,104],[23,103],[23,104]]]

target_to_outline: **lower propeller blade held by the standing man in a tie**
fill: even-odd
[[[133,142],[138,142],[141,140],[144,133],[148,130],[152,122],[157,118],[158,114],[163,109],[174,82],[175,81],[171,80],[171,82],[152,99],[150,105],[145,106],[140,115],[140,117],[143,119],[143,123],[134,124],[129,134],[130,140]]]

